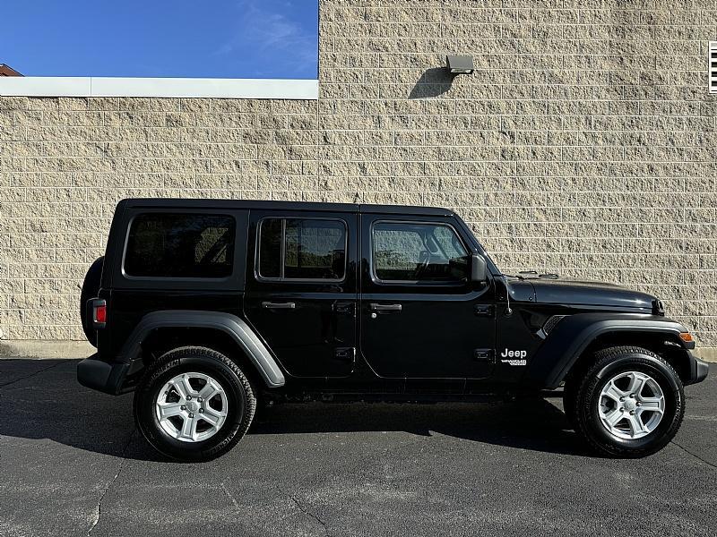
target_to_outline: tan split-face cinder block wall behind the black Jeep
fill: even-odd
[[[318,101],[0,98],[5,338],[82,338],[114,204],[186,196],[451,207],[505,271],[657,294],[717,346],[713,0],[320,11]]]

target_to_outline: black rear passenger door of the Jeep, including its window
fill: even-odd
[[[353,371],[357,220],[352,213],[251,213],[246,317],[289,375]]]

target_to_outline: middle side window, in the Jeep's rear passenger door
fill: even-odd
[[[340,281],[346,274],[341,220],[265,218],[259,226],[260,277]]]

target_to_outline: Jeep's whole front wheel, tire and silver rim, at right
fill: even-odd
[[[677,372],[647,349],[618,346],[595,354],[574,392],[570,421],[603,455],[647,456],[677,434],[685,394]]]

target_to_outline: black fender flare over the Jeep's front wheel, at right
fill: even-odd
[[[677,341],[687,328],[657,315],[640,313],[576,313],[561,320],[540,345],[525,372],[524,382],[532,388],[555,389],[595,338],[611,332],[664,334]],[[693,344],[694,346],[694,344]]]

